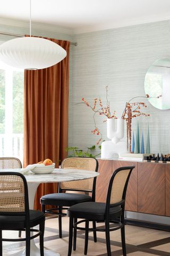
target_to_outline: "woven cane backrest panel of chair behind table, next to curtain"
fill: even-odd
[[[97,171],[98,165],[95,158],[91,157],[68,157],[62,162],[63,169]],[[94,178],[70,182],[61,182],[63,190],[81,190],[91,192],[94,186]]]

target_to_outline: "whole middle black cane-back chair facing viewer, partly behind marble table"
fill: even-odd
[[[91,157],[68,157],[62,162],[63,169],[77,169],[98,171],[98,161]],[[63,193],[65,190],[73,191],[73,193]],[[81,202],[95,202],[96,178],[61,182],[58,186],[58,193],[42,196],[40,199],[42,211],[45,213],[57,214],[59,224],[59,237],[62,238],[62,216],[66,215],[62,210],[67,210],[70,206]],[[78,191],[84,191],[86,194],[79,194]],[[77,193],[74,193],[77,192]],[[88,195],[91,193],[91,195]],[[46,205],[55,205],[53,209],[45,210]],[[57,212],[56,212],[57,210]],[[77,219],[74,220],[75,222]],[[94,222],[94,227],[96,222]],[[94,231],[94,241],[97,242],[96,232]],[[76,230],[74,232],[74,246],[76,247]]]

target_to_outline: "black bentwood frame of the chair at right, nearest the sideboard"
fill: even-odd
[[[101,232],[105,232],[106,234],[106,246],[107,246],[107,255],[111,256],[111,244],[110,244],[110,237],[109,237],[109,232],[110,231],[114,231],[117,229],[121,229],[121,238],[122,238],[122,250],[123,250],[123,256],[126,256],[126,247],[125,247],[125,229],[124,229],[124,207],[125,207],[125,196],[126,196],[126,190],[128,187],[128,182],[129,182],[129,178],[131,175],[131,172],[133,170],[135,166],[125,166],[125,167],[120,167],[118,169],[116,169],[114,171],[114,173],[112,174],[111,180],[109,181],[109,186],[108,186],[108,190],[107,190],[107,197],[106,197],[106,209],[105,209],[105,228],[89,228],[89,221],[93,221],[94,219],[84,219],[78,222],[74,222],[73,223],[73,218],[70,217],[70,223],[69,223],[69,250],[68,250],[68,256],[71,256],[71,252],[72,252],[72,239],[73,239],[73,229],[75,230],[84,230],[85,231],[85,241],[84,241],[84,255],[87,255],[87,250],[88,250],[88,236],[89,236],[89,231],[101,231]],[[110,204],[111,201],[111,193],[112,193],[112,185],[113,185],[113,181],[114,178],[116,176],[116,174],[120,171],[123,170],[130,170],[128,178],[126,179],[125,182],[125,186],[124,186],[124,190],[123,190],[123,196],[122,196],[122,201],[118,202],[118,203],[114,203],[114,204]],[[117,207],[117,206],[121,206],[122,212],[121,212],[121,216],[120,218],[114,218],[114,220],[112,220],[109,217],[109,212],[110,209],[112,207]],[[120,221],[118,221],[117,219],[120,219]],[[80,223],[85,222],[85,227],[78,227],[78,225]],[[115,223],[117,226],[116,227],[109,227],[109,223]]]

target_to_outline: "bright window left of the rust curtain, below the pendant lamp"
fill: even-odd
[[[0,62],[0,157],[23,161],[23,70]]]

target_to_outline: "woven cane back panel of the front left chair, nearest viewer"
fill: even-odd
[[[19,175],[0,174],[0,212],[25,212],[25,189]]]

